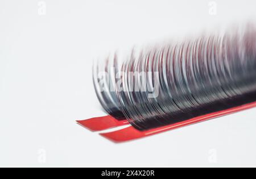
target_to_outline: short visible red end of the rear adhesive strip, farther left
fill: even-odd
[[[112,127],[129,124],[127,120],[117,120],[110,115],[86,120],[77,120],[77,123],[88,128],[91,131],[101,131]]]

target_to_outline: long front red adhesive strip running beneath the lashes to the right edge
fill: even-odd
[[[145,136],[158,134],[160,132],[164,132],[164,131],[168,131],[168,130],[174,130],[175,128],[184,127],[184,126],[188,126],[190,124],[203,122],[205,120],[209,120],[209,119],[217,118],[219,116],[236,113],[238,111],[250,109],[252,107],[256,107],[256,102],[238,106],[238,107],[233,107],[228,110],[218,111],[216,113],[210,113],[207,115],[198,116],[196,118],[185,120],[183,122],[171,124],[168,126],[154,128],[152,130],[139,131],[131,126],[131,127],[124,128],[122,130],[114,131],[114,132],[102,133],[100,135],[104,136],[105,138],[107,138],[109,140],[119,143],[119,142],[123,142],[123,141],[143,138]]]

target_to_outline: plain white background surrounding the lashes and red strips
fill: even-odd
[[[0,0],[0,166],[256,166],[256,109],[122,144],[75,122],[105,115],[93,59],[256,20],[209,2]]]

